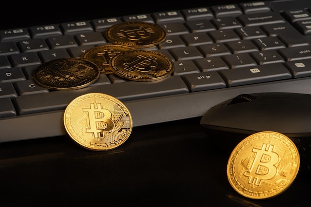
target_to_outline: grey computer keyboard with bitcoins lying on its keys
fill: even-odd
[[[80,58],[110,44],[105,31],[124,21],[156,23],[166,39],[150,48],[174,62],[160,81],[100,74],[82,89],[52,91],[33,80],[52,59]],[[66,106],[104,93],[130,110],[133,126],[202,116],[243,93],[311,94],[311,1],[251,1],[0,31],[0,142],[65,135]]]

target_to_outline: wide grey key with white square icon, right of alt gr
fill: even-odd
[[[219,73],[229,87],[292,78],[291,73],[282,63],[221,70]]]

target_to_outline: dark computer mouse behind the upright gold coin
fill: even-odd
[[[299,93],[240,94],[209,108],[200,124],[212,143],[232,152],[247,136],[275,131],[291,138],[302,153],[311,140],[311,95]]]

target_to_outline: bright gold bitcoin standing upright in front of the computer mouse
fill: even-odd
[[[300,155],[285,135],[264,131],[243,139],[233,150],[227,175],[244,197],[267,199],[284,192],[298,174]]]

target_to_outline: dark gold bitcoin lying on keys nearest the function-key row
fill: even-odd
[[[112,44],[148,48],[163,42],[166,33],[156,24],[134,21],[121,22],[109,27],[106,37]]]

